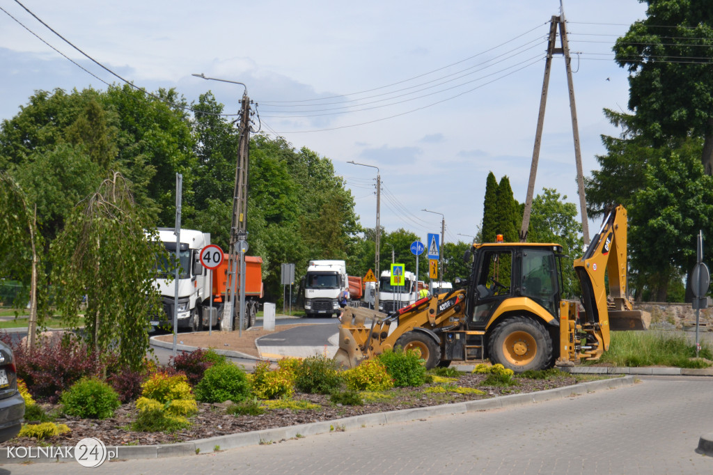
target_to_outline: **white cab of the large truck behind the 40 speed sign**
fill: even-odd
[[[173,261],[176,252],[176,236],[173,228],[159,228],[158,239],[163,242]],[[180,246],[178,258],[180,270],[178,273],[178,327],[199,330],[201,325],[200,310],[202,305],[208,305],[210,299],[210,282],[205,267],[200,264],[200,250],[210,244],[210,233],[182,229],[180,230]],[[175,305],[175,273],[165,272],[170,269],[164,262],[163,270],[156,276],[156,285],[163,299],[163,312],[158,320],[152,320],[154,327],[173,327],[173,310]],[[170,274],[170,275],[167,275]]]

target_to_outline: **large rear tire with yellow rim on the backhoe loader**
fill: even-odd
[[[498,325],[488,338],[488,357],[521,373],[545,369],[553,362],[552,339],[545,327],[527,317],[511,317]]]

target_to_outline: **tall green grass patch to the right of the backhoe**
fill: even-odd
[[[685,335],[660,332],[612,332],[609,351],[597,363],[621,367],[670,366],[679,368],[707,368],[708,362],[695,359],[695,344]],[[699,357],[713,359],[713,350],[702,342]]]

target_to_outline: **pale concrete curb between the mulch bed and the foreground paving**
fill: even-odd
[[[207,454],[225,449],[235,449],[250,445],[272,444],[278,441],[293,439],[296,437],[326,434],[332,431],[346,431],[360,429],[361,427],[374,427],[384,424],[394,424],[399,422],[411,422],[428,417],[446,416],[451,414],[465,414],[466,412],[488,411],[491,409],[501,409],[503,407],[520,406],[523,404],[538,404],[540,402],[551,401],[553,399],[565,399],[575,397],[602,389],[618,389],[625,386],[632,386],[634,377],[626,376],[615,379],[602,379],[574,386],[560,387],[557,389],[547,389],[545,391],[528,394],[511,394],[508,396],[493,397],[491,399],[481,399],[479,401],[459,402],[456,404],[442,404],[441,406],[419,407],[415,409],[402,409],[400,411],[380,412],[376,414],[363,414],[361,416],[346,417],[333,421],[312,422],[309,424],[299,424],[289,427],[275,427],[274,429],[264,429],[262,431],[243,432],[240,434],[230,434],[224,436],[210,437],[180,444],[168,445],[148,445],[148,446],[109,446],[107,447],[111,459],[161,459],[172,456],[187,456],[195,454]],[[713,440],[713,434],[709,436]],[[699,443],[699,448],[701,443]],[[713,442],[707,442],[705,450],[713,454]],[[73,454],[73,447],[67,449],[65,454]],[[73,461],[73,458],[61,456],[55,457],[24,457],[10,456],[9,448],[0,449],[0,464],[16,464],[26,461],[33,462],[53,462],[53,461]]]

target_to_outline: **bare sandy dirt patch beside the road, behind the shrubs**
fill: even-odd
[[[241,352],[250,354],[250,356],[260,357],[260,353],[257,352],[257,347],[255,346],[256,339],[264,337],[267,334],[282,332],[295,327],[303,327],[304,325],[316,324],[297,323],[294,325],[279,325],[279,327],[275,327],[275,330],[273,331],[263,330],[262,327],[252,327],[248,330],[244,330],[242,332],[242,337],[239,336],[240,332],[221,332],[220,330],[214,330],[211,332],[212,334],[208,334],[208,332],[179,333],[178,344],[185,344],[189,347],[205,349],[227,349],[229,351]],[[173,334],[163,334],[156,339],[159,339],[162,342],[173,343]]]

